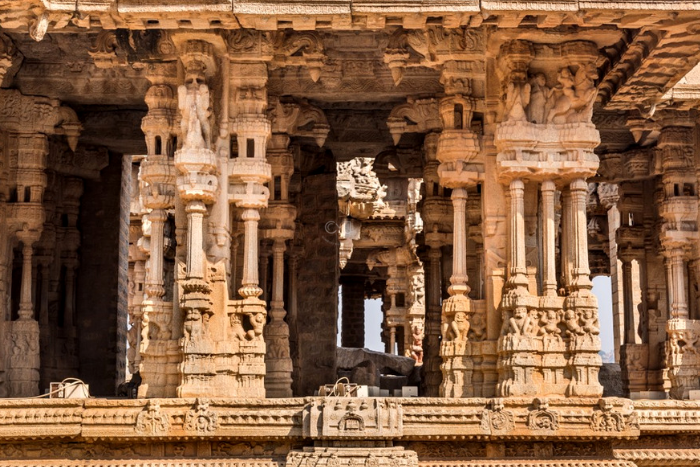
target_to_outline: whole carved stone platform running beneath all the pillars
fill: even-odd
[[[0,466],[697,465],[700,402],[3,400],[0,438]]]

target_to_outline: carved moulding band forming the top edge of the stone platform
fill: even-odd
[[[349,404],[351,400],[354,405]],[[375,406],[375,400],[379,405]],[[493,436],[505,440],[636,439],[645,432],[700,432],[700,402],[605,401],[607,404],[599,405],[598,399],[550,399],[535,409],[529,398],[211,399],[206,413],[200,413],[201,404],[194,399],[6,399],[0,400],[0,437],[89,441],[361,436],[445,441]],[[189,423],[194,416],[203,417],[200,421],[206,423]],[[338,431],[344,417],[355,417],[361,420],[359,425],[375,427],[375,431]],[[545,418],[549,423],[540,423]],[[380,425],[383,428],[376,428]]]

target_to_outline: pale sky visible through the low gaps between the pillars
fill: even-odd
[[[612,352],[613,321],[612,321],[612,289],[609,277],[598,276],[593,279],[593,293],[598,297],[598,315],[600,321],[600,340],[603,352]],[[342,318],[342,301],[339,300],[338,314],[338,345],[340,346],[340,329]],[[382,301],[365,300],[365,347],[369,350],[384,352],[384,344],[380,338],[382,329]]]

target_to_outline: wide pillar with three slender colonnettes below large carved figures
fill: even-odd
[[[497,392],[502,396],[602,394],[597,355],[600,329],[597,303],[590,292],[586,221],[586,178],[595,175],[599,165],[594,148],[600,134],[591,123],[599,52],[595,44],[585,41],[560,46],[560,51],[547,55],[528,41],[507,41],[497,59],[505,95],[494,143],[498,177],[510,191],[511,204],[511,277],[501,301],[503,325],[498,343]],[[550,86],[572,76],[570,64],[574,63],[579,71],[588,73],[576,87],[577,109],[548,109],[547,93],[554,89]],[[548,82],[553,75],[557,81]],[[559,251],[562,286],[569,293],[566,298],[557,294],[554,273],[555,180],[562,190]],[[525,209],[523,196],[538,183],[542,251],[532,266],[541,265],[542,296],[534,297],[536,288],[528,287],[527,280],[523,216],[536,211],[529,206]]]

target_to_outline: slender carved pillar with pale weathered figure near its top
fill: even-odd
[[[216,65],[213,47],[207,42],[186,41],[180,51],[185,83],[178,88],[182,146],[175,151],[175,167],[180,173],[177,188],[187,214],[187,252],[186,263],[179,266],[178,273],[180,308],[185,322],[181,340],[184,361],[177,394],[195,397],[221,394],[219,391],[225,384],[217,378],[214,353],[215,336],[226,316],[223,310],[216,314],[213,309],[214,279],[210,277],[217,277],[221,271],[207,267],[203,232],[207,205],[216,201],[218,178],[209,121],[209,87],[202,83],[215,72]],[[142,336],[147,335],[149,327],[146,318],[144,313]],[[165,331],[162,338],[169,339],[169,332]]]

